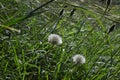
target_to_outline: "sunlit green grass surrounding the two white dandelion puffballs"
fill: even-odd
[[[120,79],[119,23],[107,34],[113,21],[101,19],[101,14],[89,7],[92,4],[72,6],[66,0],[54,1],[38,10],[47,11],[21,21],[28,12],[47,1],[31,2],[0,2],[0,80]],[[60,19],[59,12],[64,5],[68,7]],[[69,17],[73,8],[77,10]],[[114,15],[115,10],[109,14]],[[59,34],[63,44],[50,44],[51,33]],[[72,61],[75,54],[84,55],[86,63],[75,64]]]

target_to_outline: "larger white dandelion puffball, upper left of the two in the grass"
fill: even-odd
[[[48,42],[55,44],[55,45],[60,45],[62,44],[62,38],[57,34],[50,34],[48,36]]]

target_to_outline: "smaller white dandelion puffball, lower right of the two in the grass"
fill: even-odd
[[[85,57],[83,55],[80,54],[76,54],[72,57],[73,62],[75,62],[76,64],[83,64],[85,63]]]

